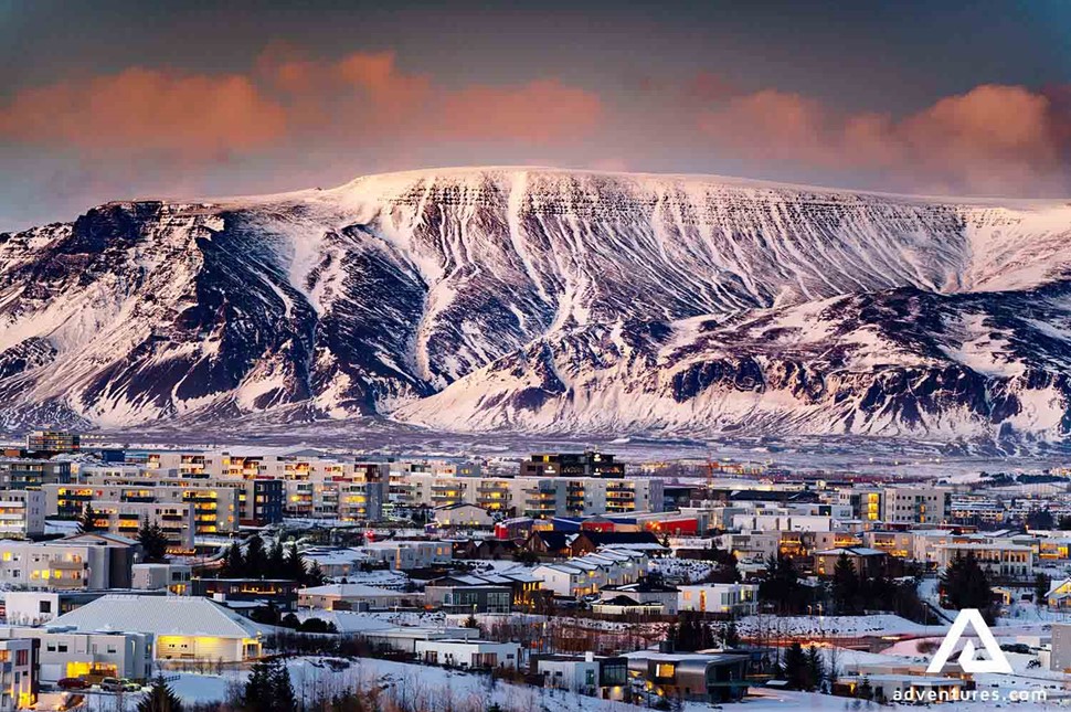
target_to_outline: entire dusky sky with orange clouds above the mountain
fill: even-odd
[[[527,164],[1071,196],[1071,2],[0,0],[0,231]]]

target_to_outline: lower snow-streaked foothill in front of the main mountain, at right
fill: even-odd
[[[395,415],[539,433],[1065,433],[1071,352],[1039,332],[1039,316],[1071,323],[1062,287],[1042,299],[906,287],[724,319],[600,325],[540,339]]]

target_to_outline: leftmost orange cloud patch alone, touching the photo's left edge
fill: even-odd
[[[248,77],[132,67],[18,93],[0,108],[0,136],[89,153],[136,147],[215,153],[277,140],[283,107]]]

